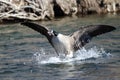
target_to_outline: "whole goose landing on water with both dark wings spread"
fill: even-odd
[[[23,22],[21,24],[46,36],[56,53],[58,55],[65,53],[67,57],[73,57],[74,52],[89,43],[93,37],[115,30],[115,27],[109,25],[89,25],[81,27],[72,35],[64,35],[36,23]]]

